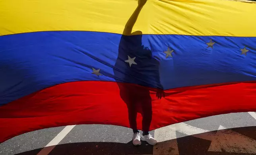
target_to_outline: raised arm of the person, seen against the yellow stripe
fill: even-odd
[[[140,11],[142,10],[143,6],[146,4],[147,0],[138,0],[138,6],[135,9],[135,11],[132,13],[131,17],[127,21],[123,35],[129,36],[132,34],[132,28],[134,24],[136,23],[138,16],[140,14]]]

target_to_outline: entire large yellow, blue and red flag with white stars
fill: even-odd
[[[256,111],[256,4],[0,0],[0,142]]]

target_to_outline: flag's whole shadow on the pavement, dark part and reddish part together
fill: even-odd
[[[112,142],[61,144],[49,155],[256,155],[256,127],[223,129],[186,136],[176,132],[177,139],[159,142],[156,146],[143,143],[135,147]],[[37,155],[35,149],[16,155]]]

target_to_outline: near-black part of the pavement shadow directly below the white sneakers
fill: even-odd
[[[37,155],[41,149],[35,149],[16,155]],[[48,155],[150,155],[153,146],[142,143],[141,146],[133,146],[132,142],[83,142],[61,144],[54,147]]]

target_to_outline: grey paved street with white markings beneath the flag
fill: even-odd
[[[256,155],[254,112],[196,119],[151,134],[159,144],[135,147],[131,142],[132,130],[128,128],[57,127],[12,138],[0,144],[0,155]]]

